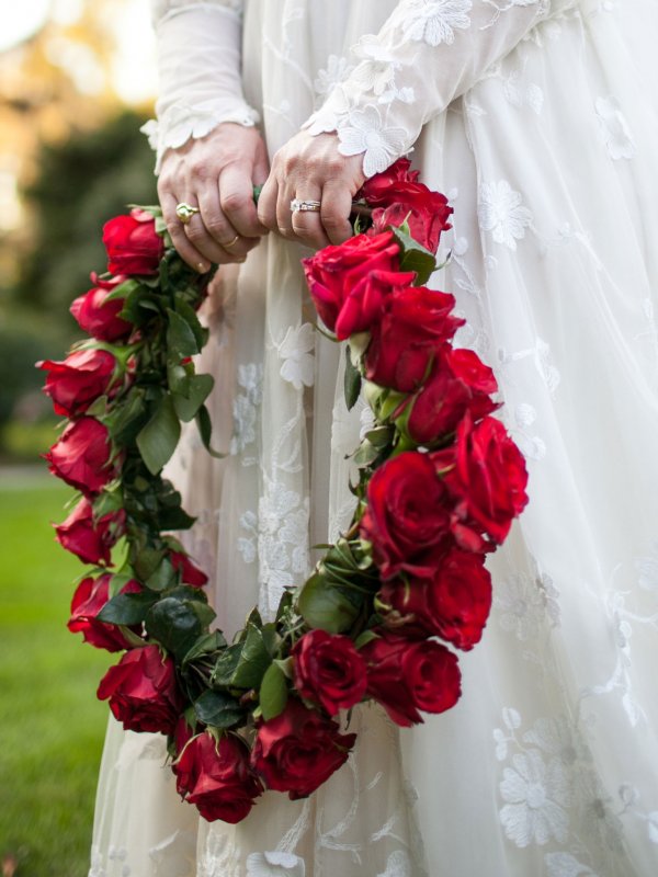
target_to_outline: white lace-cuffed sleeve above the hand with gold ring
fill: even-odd
[[[222,122],[259,121],[241,83],[242,0],[151,0],[158,42],[157,121],[143,127],[157,152],[205,137]]]

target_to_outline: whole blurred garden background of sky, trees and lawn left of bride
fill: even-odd
[[[103,223],[156,198],[148,0],[0,3],[0,873],[83,877],[112,661],[66,629],[83,567],[50,523],[72,491],[39,454],[57,421],[39,358],[105,270]]]

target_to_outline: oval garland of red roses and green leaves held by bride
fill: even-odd
[[[422,285],[452,208],[407,160],[360,197],[365,230],[358,218],[360,234],[304,260],[322,322],[349,339],[348,407],[363,388],[375,418],[353,457],[356,510],[276,618],[253,610],[231,645],[212,629],[206,576],[170,535],[193,524],[161,477],[180,421],[195,419],[209,449],[213,379],[192,357],[211,275],[182,262],[157,208],[106,224],[110,274],[71,307],[91,339],[39,363],[68,418],[46,458],[81,493],[57,538],[94,566],[68,626],[125,650],[98,695],[124,728],[168,734],[178,790],[207,820],[240,821],[264,788],[292,799],[318,788],[356,738],[340,710],[373,699],[411,726],[454,706],[461,676],[444,642],[480,639],[485,555],[526,502],[523,458],[490,417],[494,374],[453,346],[453,296]]]

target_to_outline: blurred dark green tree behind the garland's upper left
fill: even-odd
[[[139,133],[144,121],[125,111],[93,130],[73,129],[66,140],[43,144],[36,175],[22,193],[32,240],[11,297],[64,335],[75,333],[68,307],[89,288],[90,271],[105,271],[103,224],[127,204],[156,203],[154,157]]]

